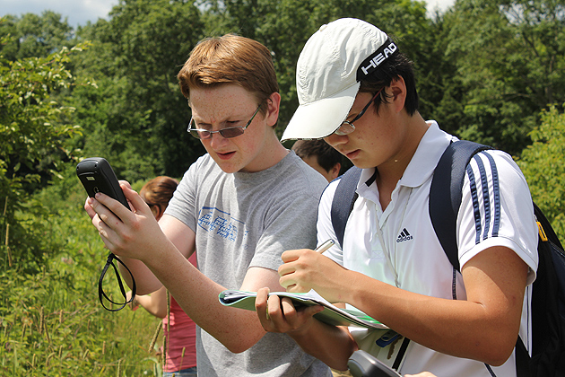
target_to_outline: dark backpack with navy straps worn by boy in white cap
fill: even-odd
[[[430,218],[449,261],[459,270],[456,246],[456,215],[461,205],[465,169],[476,153],[491,149],[469,141],[448,146],[434,171],[430,187]],[[331,218],[337,241],[343,233],[353,203],[361,169],[346,171],[335,190]],[[517,338],[517,377],[565,376],[565,253],[542,211],[534,206],[539,227],[539,265],[532,291],[532,356]]]

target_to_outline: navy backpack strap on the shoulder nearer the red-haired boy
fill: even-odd
[[[343,246],[343,234],[345,233],[345,224],[349,214],[353,209],[353,203],[358,195],[357,183],[361,178],[361,169],[353,166],[338,179],[339,183],[335,189],[334,200],[332,201],[332,208],[330,215],[332,218],[332,226],[334,226],[335,236],[339,242],[340,247]]]

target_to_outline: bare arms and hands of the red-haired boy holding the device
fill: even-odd
[[[149,287],[151,292],[145,280],[152,286],[165,285],[187,315],[231,352],[243,352],[255,345],[265,335],[256,313],[223,306],[218,294],[226,288],[187,260],[194,251],[195,233],[171,216],[164,216],[160,227],[143,199],[124,185],[122,189],[135,212],[103,194],[87,202],[96,214],[92,223],[109,250],[123,257],[143,288]],[[276,271],[252,267],[240,289],[256,291],[268,286],[282,290],[278,279]]]

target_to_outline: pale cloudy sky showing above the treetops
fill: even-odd
[[[440,11],[453,4],[454,0],[427,0],[428,11],[436,7]],[[63,18],[68,17],[68,22],[76,28],[88,21],[96,22],[99,18],[106,18],[117,0],[0,0],[0,17],[4,14],[42,13],[50,10],[60,13]]]

